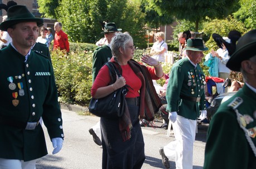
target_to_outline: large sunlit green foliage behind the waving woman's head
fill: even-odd
[[[129,32],[136,44],[144,40],[144,17],[140,3],[127,0],[62,0],[57,19],[71,42],[95,43],[101,34],[100,21],[114,22]]]

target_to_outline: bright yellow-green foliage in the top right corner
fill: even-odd
[[[234,13],[234,17],[242,21],[246,28],[255,29],[256,27],[256,1],[240,0],[241,8]]]

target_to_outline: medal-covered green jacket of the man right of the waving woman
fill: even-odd
[[[166,100],[169,112],[176,111],[186,119],[196,120],[199,110],[205,110],[205,76],[200,65],[192,65],[188,58],[178,60],[171,68],[166,90]],[[181,99],[180,95],[201,98],[200,102]]]

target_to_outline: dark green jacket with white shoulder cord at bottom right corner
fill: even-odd
[[[242,104],[237,107],[242,115],[239,117],[229,106],[230,103],[239,103],[235,101],[237,97],[242,98]],[[246,131],[240,127],[239,122]],[[237,94],[220,105],[210,122],[204,169],[255,169],[256,157],[245,135],[256,152],[256,94],[246,84]]]

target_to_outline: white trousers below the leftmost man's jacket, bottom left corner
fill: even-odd
[[[0,158],[0,169],[35,169],[36,161],[11,160]]]

